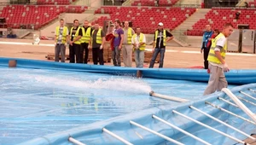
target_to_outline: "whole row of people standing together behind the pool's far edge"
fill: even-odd
[[[160,54],[160,66],[163,67],[166,52],[166,43],[172,40],[170,32],[163,29],[164,24],[159,23],[158,29],[154,32],[153,56],[150,61],[150,67],[154,67],[157,55]],[[73,20],[73,27],[70,32],[67,26],[64,26],[64,20],[60,20],[60,26],[55,28],[55,61],[65,62],[66,46],[69,44],[70,63],[88,62],[89,49],[92,49],[93,64],[104,65],[103,47],[105,41],[110,41],[112,49],[113,66],[121,66],[121,53],[125,67],[131,67],[132,53],[136,67],[143,67],[144,51],[146,49],[146,36],[137,27],[134,31],[129,26],[129,21],[124,25],[119,20],[115,20],[109,25],[107,34],[102,31],[99,24],[95,24],[92,29],[89,21],[85,20],[83,26],[79,26],[79,20]],[[84,53],[85,52],[85,53]]]

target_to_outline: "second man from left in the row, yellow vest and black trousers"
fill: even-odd
[[[70,63],[81,63],[81,41],[82,29],[79,27],[79,20],[73,20],[73,27],[70,30],[69,60]],[[76,58],[76,59],[75,59]]]

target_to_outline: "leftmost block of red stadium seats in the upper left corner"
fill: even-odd
[[[6,19],[8,27],[38,28],[45,26],[51,20],[58,18],[61,13],[82,13],[84,6],[55,6],[55,5],[7,5],[0,12],[0,17]]]

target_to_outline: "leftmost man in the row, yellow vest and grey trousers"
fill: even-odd
[[[67,26],[64,26],[64,20],[60,20],[60,26],[55,27],[55,61],[59,61],[61,53],[61,62],[65,62],[66,45],[69,42],[69,32]]]

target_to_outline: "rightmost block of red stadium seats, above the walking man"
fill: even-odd
[[[236,20],[236,12],[241,13]],[[201,19],[195,23],[193,30],[188,31],[188,35],[201,36],[205,26],[210,24],[212,29],[222,30],[224,23],[230,22],[235,28],[238,24],[249,24],[251,29],[256,29],[255,9],[211,9],[206,14],[206,19]]]

